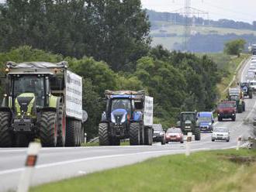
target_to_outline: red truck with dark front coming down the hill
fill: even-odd
[[[223,118],[231,118],[236,121],[237,102],[236,101],[221,101],[217,105],[218,121],[221,122]]]

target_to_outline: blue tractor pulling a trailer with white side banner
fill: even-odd
[[[145,91],[105,91],[106,111],[99,123],[99,145],[152,145],[153,98]]]

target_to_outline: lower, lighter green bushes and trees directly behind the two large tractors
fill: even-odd
[[[9,60],[17,63],[67,60],[71,70],[84,79],[83,108],[88,111],[85,129],[89,138],[98,133],[97,125],[105,108],[102,98],[106,89],[147,90],[154,97],[154,121],[168,126],[175,122],[179,111],[212,109],[216,98],[216,83],[220,81],[216,64],[208,57],[171,53],[161,46],[150,49],[146,57],[137,60],[134,73],[115,73],[107,63],[95,61],[92,57],[63,57],[30,46],[0,53],[2,69]]]

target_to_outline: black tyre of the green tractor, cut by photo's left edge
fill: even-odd
[[[0,147],[11,147],[13,142],[12,132],[9,131],[10,113],[0,112]]]

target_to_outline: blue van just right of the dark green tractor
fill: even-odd
[[[211,111],[200,111],[197,113],[197,118],[199,121],[200,131],[213,131],[213,112]]]

